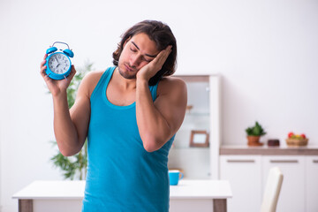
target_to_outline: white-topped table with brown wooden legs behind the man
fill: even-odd
[[[85,181],[34,181],[12,198],[19,200],[19,212],[79,212],[84,189]],[[178,186],[170,186],[170,212],[223,212],[231,196],[226,180],[182,179]]]

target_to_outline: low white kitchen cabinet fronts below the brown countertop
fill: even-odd
[[[276,211],[318,211],[318,156],[220,155],[220,178],[230,181],[233,192],[229,211],[259,211],[269,170],[275,166],[284,175]]]

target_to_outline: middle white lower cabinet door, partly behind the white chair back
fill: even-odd
[[[276,211],[305,211],[305,156],[263,156],[262,191],[272,167],[279,167],[284,179]]]

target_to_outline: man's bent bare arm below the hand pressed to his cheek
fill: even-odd
[[[136,116],[140,137],[148,152],[162,148],[177,133],[186,114],[186,83],[164,79],[153,102],[148,82],[137,81]]]

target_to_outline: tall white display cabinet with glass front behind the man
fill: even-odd
[[[169,169],[183,170],[188,179],[217,179],[220,148],[220,77],[176,75],[187,86],[186,117],[170,149]],[[191,131],[206,131],[208,148],[190,148]]]

